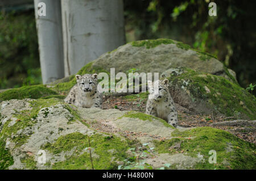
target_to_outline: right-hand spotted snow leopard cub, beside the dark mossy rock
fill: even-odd
[[[177,111],[174,106],[171,94],[168,90],[168,79],[156,81],[159,83],[158,92],[154,91],[154,82],[148,81],[149,95],[146,106],[148,115],[160,117],[167,121],[168,124],[177,126]]]

